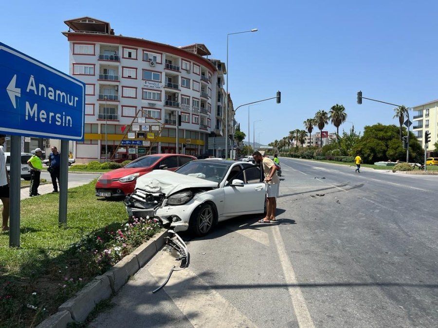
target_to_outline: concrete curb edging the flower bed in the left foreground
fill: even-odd
[[[102,276],[96,276],[58,308],[58,312],[37,328],[65,328],[72,321],[85,321],[98,302],[117,293],[128,278],[142,268],[164,246],[167,230],[161,231],[117,262]]]

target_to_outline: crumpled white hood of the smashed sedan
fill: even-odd
[[[135,189],[171,195],[187,188],[218,187],[218,183],[166,170],[156,170],[137,179]]]

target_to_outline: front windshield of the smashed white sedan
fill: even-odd
[[[229,167],[230,164],[218,163],[215,161],[192,161],[180,167],[175,172],[216,182],[223,180]]]

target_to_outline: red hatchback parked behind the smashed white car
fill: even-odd
[[[96,196],[123,199],[132,193],[139,176],[152,170],[175,171],[194,159],[194,156],[180,154],[155,154],[139,157],[123,168],[112,170],[100,176],[96,182]]]

